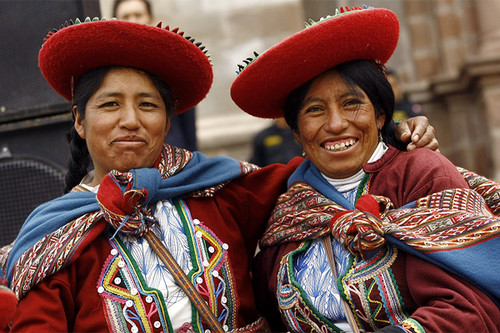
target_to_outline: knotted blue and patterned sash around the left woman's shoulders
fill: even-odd
[[[133,232],[133,224],[143,231],[149,226],[149,211],[145,208],[149,203],[212,196],[228,181],[256,169],[232,158],[207,158],[199,152],[166,145],[156,168],[108,174],[102,181],[106,186],[99,187],[100,201],[95,193],[75,191],[45,203],[28,217],[9,255],[6,274],[11,289],[22,297],[31,287],[68,265],[105,229],[106,224],[101,223],[105,214],[123,219],[128,216],[121,227],[124,231]],[[134,195],[127,194],[129,191]],[[134,198],[137,193],[142,198],[128,205],[124,197]],[[105,208],[101,210],[100,204]],[[120,227],[123,219],[111,224]],[[125,226],[127,222],[130,223]]]

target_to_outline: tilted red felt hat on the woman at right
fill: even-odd
[[[352,60],[385,64],[398,37],[399,22],[392,11],[366,6],[342,8],[256,58],[248,58],[248,65],[240,66],[231,86],[231,97],[253,116],[283,117],[286,98],[293,90]]]

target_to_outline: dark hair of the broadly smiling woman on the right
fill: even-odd
[[[394,93],[385,75],[368,60],[354,60],[332,68],[350,86],[361,88],[370,99],[375,109],[375,117],[385,114],[384,126],[381,129],[385,143],[400,150],[405,145],[394,136],[396,127],[392,120],[394,113]],[[290,128],[298,132],[298,115],[304,98],[314,79],[295,89],[287,98],[284,108],[285,120]]]

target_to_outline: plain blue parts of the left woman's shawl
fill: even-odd
[[[244,174],[242,164],[229,157],[208,158],[194,152],[182,171],[162,178],[156,168],[131,170],[134,174],[134,189],[147,189],[148,202],[181,198],[195,191],[217,186]],[[146,204],[148,203],[146,202]],[[13,245],[6,267],[9,284],[12,269],[21,255],[33,245],[66,223],[100,209],[96,194],[92,192],[70,192],[36,208],[21,227]]]

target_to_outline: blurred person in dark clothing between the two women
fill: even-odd
[[[302,146],[293,137],[292,130],[284,118],[257,133],[252,143],[250,163],[266,166],[273,163],[288,163],[302,154]]]

